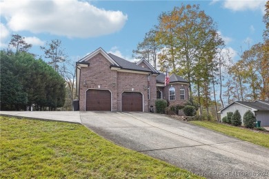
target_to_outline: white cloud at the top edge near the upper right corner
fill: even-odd
[[[223,6],[233,11],[263,10],[265,3],[266,0],[225,0]]]

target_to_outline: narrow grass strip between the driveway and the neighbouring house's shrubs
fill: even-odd
[[[241,140],[245,140],[250,143],[254,143],[269,148],[269,134],[264,134],[260,132],[250,131],[248,129],[241,129],[239,127],[208,121],[197,120],[197,121],[191,121],[190,123],[201,125],[203,127],[207,127],[215,131],[220,131],[224,134],[227,134],[228,136],[233,136],[235,138],[239,138]]]

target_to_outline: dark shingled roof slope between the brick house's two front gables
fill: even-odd
[[[119,66],[121,66],[122,69],[126,70],[138,70],[142,72],[152,72],[152,70],[148,70],[144,67],[140,67],[139,65],[136,65],[135,63],[132,63],[130,61],[126,61],[124,59],[121,59],[119,56],[116,56],[114,54],[108,54],[114,61],[116,61]]]

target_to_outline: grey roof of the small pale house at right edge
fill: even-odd
[[[269,111],[269,102],[268,101],[255,101],[255,102],[246,102],[246,101],[235,101],[232,104],[239,104],[245,107],[248,107],[252,109],[252,111]],[[230,105],[227,105],[226,107],[223,107],[221,110],[219,110],[219,113],[223,111],[223,109],[226,109]]]

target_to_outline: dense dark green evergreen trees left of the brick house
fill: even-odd
[[[32,47],[19,34],[10,48],[1,50],[1,110],[55,110],[66,99],[64,78],[28,50]],[[12,51],[14,50],[14,52]]]

